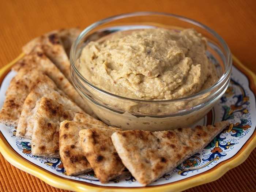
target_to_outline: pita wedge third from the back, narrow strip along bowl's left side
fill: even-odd
[[[40,47],[36,47],[33,53],[26,55],[22,60],[18,61],[13,67],[15,71],[21,68],[33,68],[47,74],[56,83],[57,87],[62,90],[68,97],[74,101],[84,112],[93,115],[92,110],[86,101],[79,95],[72,84],[65,78],[60,70],[54,65],[43,53]]]

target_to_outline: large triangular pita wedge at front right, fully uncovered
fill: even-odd
[[[202,150],[227,125],[227,121],[222,121],[194,129],[115,132],[112,142],[132,176],[147,185]]]

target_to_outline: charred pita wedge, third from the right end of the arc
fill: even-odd
[[[105,126],[68,120],[60,123],[60,158],[67,175],[79,175],[92,170],[80,144],[78,132],[93,127],[104,128]]]

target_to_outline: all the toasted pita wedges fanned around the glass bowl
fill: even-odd
[[[78,29],[52,31],[23,47],[6,92],[0,123],[31,139],[33,155],[61,158],[67,175],[94,171],[106,183],[125,167],[148,185],[199,152],[227,125],[170,131],[123,131],[92,117],[71,84],[69,50]]]

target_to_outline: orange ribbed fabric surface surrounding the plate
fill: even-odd
[[[0,67],[21,52],[31,38],[50,30],[79,26],[81,29],[108,16],[133,11],[160,11],[183,15],[211,27],[229,45],[240,61],[256,72],[256,1],[222,0],[0,0]],[[240,166],[217,181],[186,192],[256,191],[256,150]],[[10,165],[0,155],[0,191],[45,191],[56,189]]]

